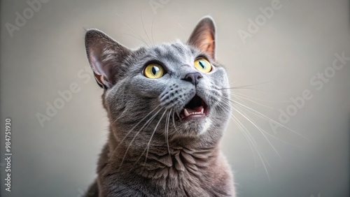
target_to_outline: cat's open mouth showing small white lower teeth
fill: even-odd
[[[196,94],[181,111],[181,118],[205,117],[207,112],[208,105]]]

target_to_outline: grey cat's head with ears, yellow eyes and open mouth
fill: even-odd
[[[204,17],[187,43],[131,50],[97,29],[85,35],[87,58],[111,132],[144,146],[217,143],[230,115],[228,76],[215,57],[215,24]]]

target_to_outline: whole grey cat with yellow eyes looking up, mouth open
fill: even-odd
[[[186,44],[130,50],[90,29],[85,46],[111,122],[86,196],[235,196],[219,149],[231,108],[211,17]]]

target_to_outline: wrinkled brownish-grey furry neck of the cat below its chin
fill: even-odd
[[[206,145],[191,139],[177,140],[183,143],[169,143],[146,147],[109,145],[110,164],[122,171],[133,171],[148,178],[177,177],[179,173],[197,175],[204,168],[212,168],[219,154],[218,143]],[[191,143],[192,142],[192,143]],[[199,170],[202,169],[202,170]]]

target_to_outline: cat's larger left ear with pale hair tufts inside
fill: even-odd
[[[85,48],[97,84],[105,89],[114,85],[119,66],[131,50],[97,29],[86,32]]]

